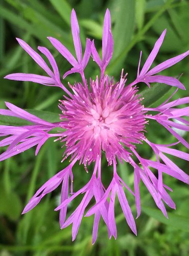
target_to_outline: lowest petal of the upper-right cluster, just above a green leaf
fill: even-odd
[[[185,87],[183,86],[183,84],[178,79],[171,77],[171,76],[161,76],[161,75],[147,76],[147,77],[145,77],[145,82],[166,83],[169,86],[174,86],[174,87],[178,87],[182,90],[185,90]]]

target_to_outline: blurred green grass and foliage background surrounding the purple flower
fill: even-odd
[[[59,66],[61,76],[70,66],[55,49],[46,36],[59,39],[74,54],[73,39],[70,33],[70,12],[75,8],[81,31],[82,45],[86,36],[95,38],[101,51],[103,18],[106,8],[110,9],[114,37],[114,54],[107,69],[115,80],[119,79],[121,69],[128,72],[128,80],[136,76],[140,50],[143,51],[142,64],[149,55],[160,33],[167,28],[160,52],[154,65],[189,49],[189,5],[188,1],[163,0],[0,0],[0,108],[4,101],[12,102],[24,109],[60,113],[58,100],[62,99],[61,89],[45,87],[31,82],[4,80],[10,73],[24,72],[44,75],[33,59],[17,44],[15,37],[26,40],[35,50],[37,46],[48,47]],[[99,73],[97,65],[89,61],[86,77],[95,78]],[[180,76],[186,91],[179,90],[174,96],[188,96],[189,63],[188,58],[164,71],[165,75]],[[73,83],[79,76],[70,75],[64,81]],[[139,91],[149,105],[148,90],[144,84]],[[174,88],[156,87],[150,103],[157,105],[174,92]],[[160,96],[161,99],[158,99]],[[158,101],[156,101],[158,99]],[[156,102],[154,102],[156,101]],[[45,112],[46,113],[46,112]],[[48,118],[50,118],[47,116]],[[0,123],[9,123],[0,117]],[[156,123],[147,125],[147,138],[155,143],[172,143],[172,135]],[[188,135],[183,135],[188,140]],[[182,145],[177,149],[185,151]],[[3,152],[5,148],[1,148]],[[147,145],[138,147],[139,154],[154,159]],[[140,184],[142,213],[136,220],[138,236],[128,228],[121,207],[116,202],[115,214],[118,238],[109,240],[106,227],[100,224],[98,239],[91,245],[93,216],[84,218],[75,242],[72,242],[72,227],[60,230],[58,212],[60,188],[46,196],[28,214],[21,211],[31,196],[46,180],[68,163],[60,163],[61,144],[53,139],[46,142],[39,155],[35,149],[0,162],[0,255],[189,255],[189,190],[186,184],[164,175],[164,183],[173,188],[171,193],[177,209],[168,210],[169,221],[156,208],[143,184]],[[185,161],[170,157],[188,173]],[[109,184],[112,177],[111,167],[102,162],[103,182]],[[78,190],[88,180],[93,165],[87,174],[83,166],[74,167],[74,190]],[[119,175],[133,188],[133,172],[129,165],[119,165]],[[126,193],[127,194],[127,193]],[[134,198],[127,194],[133,214],[136,217]],[[68,215],[79,204],[76,199],[68,208]]]

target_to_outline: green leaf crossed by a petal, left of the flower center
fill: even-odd
[[[60,122],[59,114],[52,113],[49,111],[41,111],[41,110],[26,110],[30,114],[35,115],[41,119],[44,119],[45,121],[54,123],[54,122]],[[3,116],[0,115],[0,124],[2,125],[28,125],[31,124],[30,122],[17,118],[12,116]]]

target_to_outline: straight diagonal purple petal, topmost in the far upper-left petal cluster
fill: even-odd
[[[53,76],[53,72],[50,70],[48,65],[46,65],[44,59],[36,53],[25,41],[16,38],[19,45],[37,62],[37,64],[46,72],[49,76]]]

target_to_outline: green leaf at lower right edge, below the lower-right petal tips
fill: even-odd
[[[157,209],[152,209],[150,207],[144,207],[143,211],[148,216],[158,220],[159,222],[162,222],[168,226],[172,226],[174,228],[178,228],[183,231],[189,232],[189,218],[185,216],[180,216],[177,214],[173,214],[172,212],[169,212],[167,219],[164,217],[161,213],[161,211]]]

